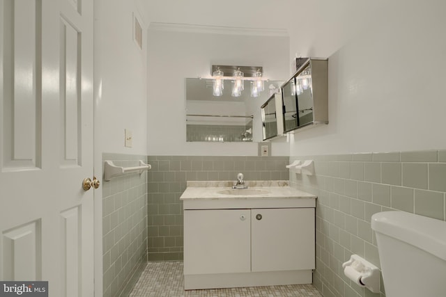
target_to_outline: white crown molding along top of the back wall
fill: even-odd
[[[203,25],[193,25],[193,24],[174,24],[174,23],[158,23],[158,22],[151,22],[148,26],[148,30],[183,32],[183,33],[289,37],[288,30],[286,29],[203,26]]]

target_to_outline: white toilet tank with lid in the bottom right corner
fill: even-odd
[[[387,297],[446,296],[446,222],[403,211],[371,216]]]

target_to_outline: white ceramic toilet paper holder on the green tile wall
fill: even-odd
[[[379,268],[358,255],[351,255],[342,264],[344,274],[360,287],[366,287],[373,293],[379,293]]]

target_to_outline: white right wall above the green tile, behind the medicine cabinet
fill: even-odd
[[[305,46],[329,58],[330,124],[295,134],[291,155],[446,147],[446,2],[389,2],[339,49],[322,33]]]

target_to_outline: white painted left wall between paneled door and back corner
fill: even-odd
[[[146,154],[146,26],[137,1],[95,3],[95,151]],[[132,15],[143,26],[143,49],[134,42]],[[124,147],[124,129],[133,147]]]

